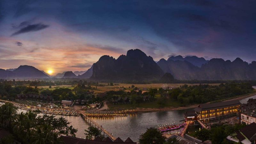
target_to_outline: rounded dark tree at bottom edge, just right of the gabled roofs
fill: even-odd
[[[153,127],[147,129],[147,131],[140,135],[139,143],[140,144],[163,144],[165,142],[165,136],[162,133]]]

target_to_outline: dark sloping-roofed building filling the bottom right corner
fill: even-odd
[[[246,125],[239,131],[236,131],[227,137],[228,140],[241,144],[256,143],[256,123]]]

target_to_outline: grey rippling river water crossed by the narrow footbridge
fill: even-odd
[[[241,103],[246,103],[248,99],[256,98],[256,95],[240,100]],[[4,104],[0,102],[0,105]],[[19,109],[19,112],[26,110]],[[140,134],[145,132],[147,128],[157,127],[164,124],[181,124],[184,120],[184,112],[186,110],[164,111],[130,114],[126,117],[94,117],[98,124],[102,125],[107,131],[113,133],[114,137],[120,137],[122,140],[130,137],[133,141],[138,141]],[[40,114],[43,115],[43,114]],[[56,117],[60,117],[57,115]],[[81,116],[62,116],[66,118],[74,128],[78,129],[76,137],[85,138],[84,129],[87,129],[90,124],[86,123]],[[177,132],[181,131],[177,130]]]

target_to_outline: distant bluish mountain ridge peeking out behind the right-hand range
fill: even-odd
[[[207,63],[209,60],[205,60],[204,58],[198,58],[197,56],[186,56],[183,58],[181,55],[178,56],[171,56],[168,60],[180,60],[180,61],[188,61],[194,66],[201,67],[202,64]]]

